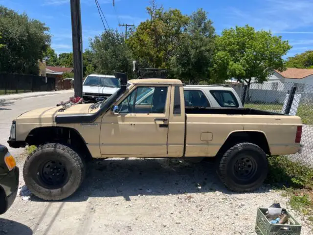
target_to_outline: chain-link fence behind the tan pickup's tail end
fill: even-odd
[[[242,98],[245,108],[299,116],[303,123],[302,149],[289,157],[313,167],[313,85],[265,82],[251,83],[250,88],[243,84],[230,86]]]

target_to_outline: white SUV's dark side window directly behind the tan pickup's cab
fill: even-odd
[[[185,107],[210,107],[205,94],[200,90],[184,90]]]

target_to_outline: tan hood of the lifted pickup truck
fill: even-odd
[[[71,107],[65,109],[63,106],[53,106],[47,108],[40,108],[28,111],[18,116],[18,123],[53,123],[54,117],[60,114],[88,114],[90,104],[76,104]]]

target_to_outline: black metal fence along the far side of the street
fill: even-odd
[[[0,95],[55,90],[55,78],[26,74],[0,73]]]

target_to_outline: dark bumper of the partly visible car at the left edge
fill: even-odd
[[[19,167],[14,167],[5,177],[0,180],[0,214],[5,213],[13,204],[19,188]]]

